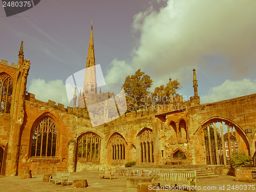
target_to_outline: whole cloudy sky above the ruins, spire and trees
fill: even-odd
[[[0,7],[0,59],[17,63],[20,42],[31,62],[27,90],[69,103],[66,79],[85,68],[93,20],[96,64],[106,83],[141,69],[151,91],[177,79],[185,100],[201,103],[256,91],[256,1],[44,0],[6,17]]]

